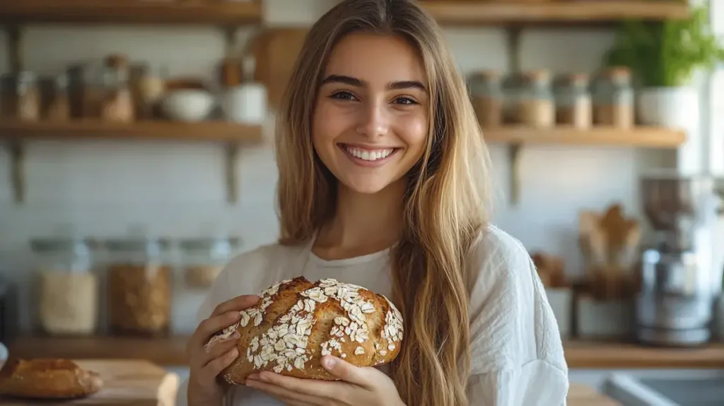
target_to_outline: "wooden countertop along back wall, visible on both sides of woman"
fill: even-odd
[[[141,358],[159,365],[186,365],[187,337],[21,337],[9,345],[20,358]],[[657,348],[621,342],[564,343],[568,368],[722,368],[724,343],[699,348]]]

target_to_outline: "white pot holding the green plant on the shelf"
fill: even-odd
[[[636,107],[644,125],[686,130],[699,122],[696,88],[645,88],[639,91]]]

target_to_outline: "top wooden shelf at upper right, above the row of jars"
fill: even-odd
[[[689,16],[688,4],[675,0],[424,1],[423,4],[439,22],[447,25],[599,23],[628,18],[676,20]]]

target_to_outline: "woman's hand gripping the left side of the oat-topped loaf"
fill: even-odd
[[[228,339],[206,347],[211,336],[239,321],[239,312],[255,305],[256,295],[238,296],[216,306],[214,312],[202,321],[188,340],[190,374],[188,380],[188,405],[220,405],[224,388],[216,376],[239,355],[236,344],[238,333]]]

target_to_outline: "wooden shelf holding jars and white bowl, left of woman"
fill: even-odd
[[[69,122],[1,121],[0,138],[64,139],[92,138],[118,140],[186,140],[258,143],[261,127],[230,122],[112,122],[77,120]]]

